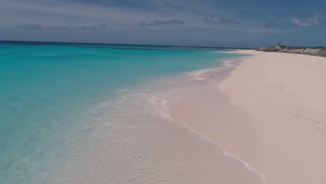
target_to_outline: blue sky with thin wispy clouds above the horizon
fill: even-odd
[[[326,46],[326,1],[0,0],[0,40]]]

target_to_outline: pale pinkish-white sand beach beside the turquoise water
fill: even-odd
[[[222,82],[172,105],[171,115],[269,184],[326,183],[326,58],[237,52],[253,56]],[[223,77],[217,75],[203,74]]]

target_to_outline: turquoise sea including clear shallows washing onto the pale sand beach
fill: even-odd
[[[184,162],[168,167],[157,160],[183,155],[195,144],[210,153],[219,148],[173,124],[166,117],[166,102],[207,85],[190,74],[235,57],[221,51],[0,43],[0,183],[150,183],[159,179],[183,183],[184,178],[192,179],[196,168],[183,176],[183,167],[180,173],[178,167]],[[185,85],[192,82],[193,86]],[[178,139],[188,144],[178,146]],[[205,162],[213,156],[198,159]],[[196,157],[185,156],[193,161]],[[215,176],[206,178],[204,183],[215,180]]]

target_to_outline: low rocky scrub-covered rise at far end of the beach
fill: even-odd
[[[263,52],[284,52],[293,54],[308,54],[313,56],[326,56],[326,47],[291,47],[291,46],[274,46],[274,47],[262,47],[257,49]]]

